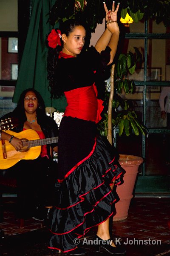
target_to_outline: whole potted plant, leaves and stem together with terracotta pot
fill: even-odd
[[[132,52],[133,49],[134,52]],[[129,110],[128,102],[120,96],[122,90],[126,94],[133,93],[134,82],[128,79],[128,73],[133,74],[136,67],[142,63],[141,53],[136,47],[133,47],[133,49],[127,54],[120,54],[116,66],[113,64],[111,67],[111,89],[110,92],[106,92],[108,111],[99,125],[100,133],[107,136],[111,145],[113,144],[113,131],[116,126],[119,126],[119,136],[123,133],[129,136],[132,132],[138,136],[139,131],[145,135],[146,132],[146,128],[142,122],[139,122],[136,113]],[[119,107],[121,107],[120,110]],[[127,218],[139,165],[142,162],[142,157],[120,154],[119,163],[125,169],[125,175],[124,183],[116,187],[119,201],[115,204],[116,214],[113,221]]]

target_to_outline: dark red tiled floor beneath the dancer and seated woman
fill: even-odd
[[[5,256],[53,256],[63,255],[49,250],[49,231],[42,223],[28,219],[24,228],[14,215],[14,202],[6,200],[5,220],[0,228],[5,233],[1,239],[1,255]],[[121,238],[126,247],[126,256],[168,256],[170,255],[170,198],[133,198],[128,217],[113,221],[113,238]],[[87,233],[92,238],[96,230]],[[83,241],[83,239],[81,239]],[[86,245],[87,246],[87,245]],[[10,247],[12,249],[10,249]],[[96,256],[93,247],[87,247],[88,255]],[[109,255],[104,253],[103,255]]]

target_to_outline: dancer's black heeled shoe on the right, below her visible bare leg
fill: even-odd
[[[114,255],[120,255],[120,254],[126,253],[126,250],[123,246],[116,246],[116,247],[111,246],[111,242],[112,242],[111,239],[103,240],[103,239],[99,238],[99,236],[96,235],[94,237],[94,240],[96,241],[96,244],[94,244],[95,252],[100,252],[100,249],[103,248],[106,251],[108,251],[109,253],[114,254]]]

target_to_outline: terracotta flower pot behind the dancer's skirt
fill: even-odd
[[[123,178],[124,183],[116,186],[116,192],[120,200],[115,204],[116,215],[113,216],[113,221],[122,221],[127,218],[139,165],[143,163],[143,158],[120,154],[119,163],[126,173]]]

